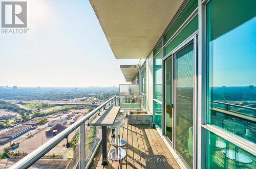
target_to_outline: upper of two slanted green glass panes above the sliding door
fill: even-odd
[[[180,28],[180,26],[185,22],[185,20],[196,10],[198,7],[197,0],[190,0],[186,7],[182,10],[180,15],[177,17],[175,22],[170,26],[170,29],[164,35],[164,44],[175,34],[175,32]]]

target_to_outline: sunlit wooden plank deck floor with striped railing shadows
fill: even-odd
[[[110,131],[108,136],[108,150],[111,150],[114,147],[109,144],[113,139]],[[180,168],[158,132],[150,125],[129,125],[125,120],[121,137],[127,140],[123,147],[126,157],[122,161],[109,160],[109,164],[103,167],[100,146],[90,168]]]

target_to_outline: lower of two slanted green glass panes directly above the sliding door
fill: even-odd
[[[165,47],[164,55],[171,52],[184,40],[186,40],[191,34],[198,30],[198,15],[195,16],[184,29]]]

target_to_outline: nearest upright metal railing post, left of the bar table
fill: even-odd
[[[86,123],[80,126],[80,168],[86,168]]]

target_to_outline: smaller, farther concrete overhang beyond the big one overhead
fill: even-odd
[[[121,65],[120,68],[126,82],[132,82],[139,73],[140,65]]]

